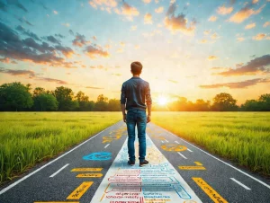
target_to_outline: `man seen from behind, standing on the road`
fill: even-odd
[[[137,125],[139,138],[139,166],[148,164],[146,156],[146,126],[151,120],[151,94],[148,82],[142,80],[141,74],[142,65],[135,61],[131,63],[130,80],[127,80],[121,85],[121,111],[123,121],[126,122],[128,128],[128,152],[130,165],[135,164],[135,127]],[[147,103],[147,105],[145,104]],[[148,116],[146,115],[148,109]],[[127,110],[127,114],[125,113]]]

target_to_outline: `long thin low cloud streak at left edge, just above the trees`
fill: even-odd
[[[67,82],[63,80],[53,79],[49,77],[39,77],[38,75],[40,74],[36,74],[32,70],[13,70],[13,69],[4,69],[0,67],[0,73],[14,75],[14,76],[23,75],[23,76],[28,76],[29,78],[40,80],[40,81],[57,83],[57,84],[67,84]]]

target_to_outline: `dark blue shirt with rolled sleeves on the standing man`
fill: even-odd
[[[126,104],[126,110],[146,110],[145,103],[152,103],[148,82],[131,77],[121,85],[121,104]]]

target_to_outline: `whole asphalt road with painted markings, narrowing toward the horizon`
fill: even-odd
[[[270,202],[269,181],[152,123],[148,166],[129,166],[118,122],[0,188],[0,203]],[[138,139],[136,152],[138,152]],[[137,154],[138,158],[138,154]]]

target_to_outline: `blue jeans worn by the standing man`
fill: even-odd
[[[128,152],[130,161],[135,161],[135,127],[138,129],[139,139],[139,162],[145,160],[146,156],[146,126],[147,126],[147,115],[145,110],[128,110],[127,113],[127,128],[128,128]]]

